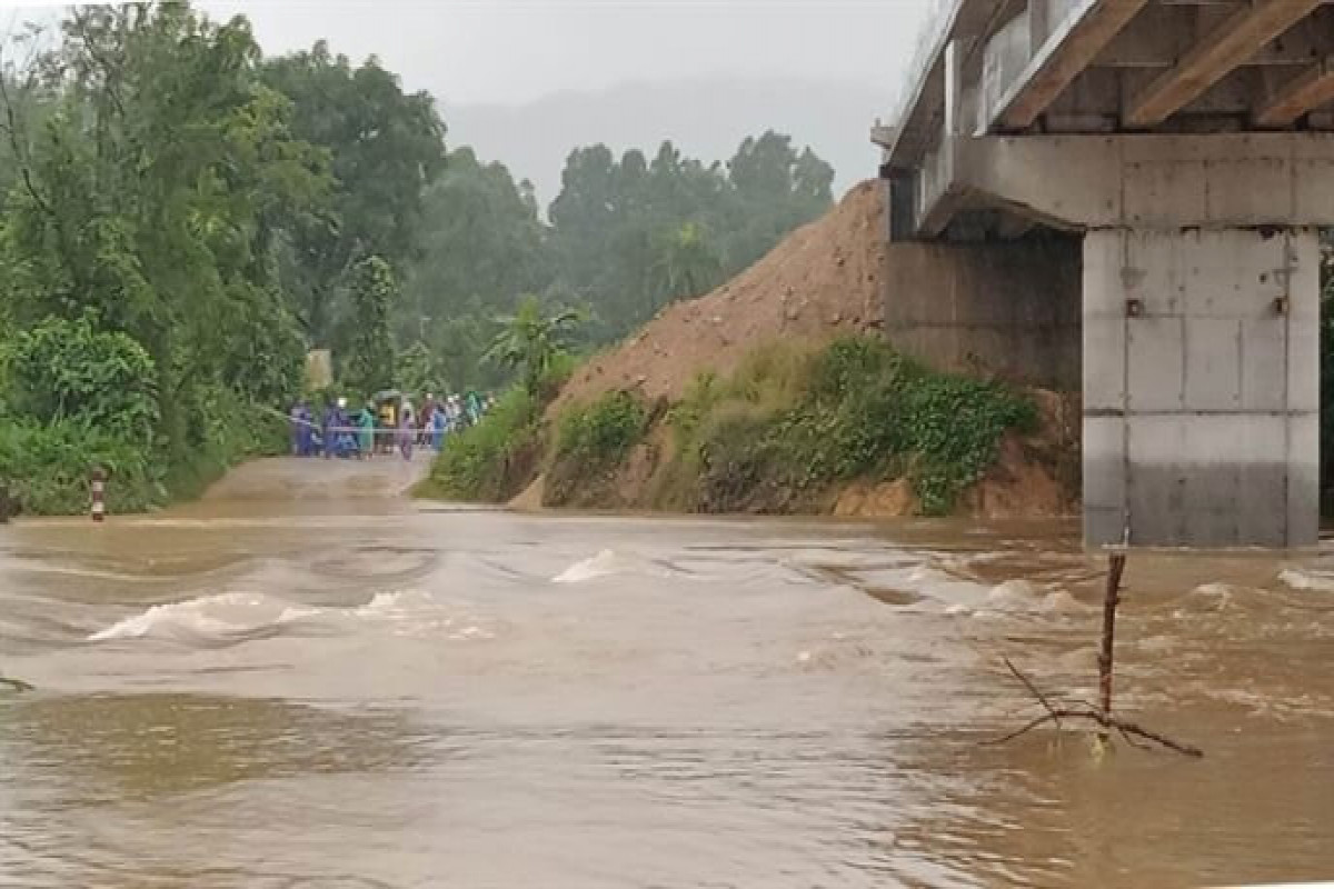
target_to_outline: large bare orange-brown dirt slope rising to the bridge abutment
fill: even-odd
[[[788,235],[738,277],[664,308],[639,333],[591,360],[552,411],[607,389],[676,399],[698,372],[727,373],[766,340],[819,343],[880,327],[883,229],[880,184],[854,187],[836,208]]]

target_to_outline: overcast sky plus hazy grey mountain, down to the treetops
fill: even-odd
[[[568,149],[660,139],[707,160],[774,127],[811,144],[846,188],[874,175],[867,140],[903,88],[927,9],[944,0],[196,0],[244,13],[269,55],[320,37],[376,55],[446,112],[451,144],[538,181],[550,200]],[[12,3],[5,19],[59,9]],[[626,84],[675,89],[636,91]],[[766,91],[771,84],[772,89]],[[615,88],[620,87],[619,91]],[[614,91],[614,92],[611,92]],[[552,93],[588,93],[570,101]],[[512,112],[496,105],[518,105]],[[470,111],[468,107],[476,107]],[[510,119],[504,115],[510,113]]]

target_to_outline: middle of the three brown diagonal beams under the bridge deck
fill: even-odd
[[[1123,116],[1125,125],[1149,128],[1167,120],[1318,5],[1321,0],[1251,0],[1242,4],[1177,65],[1131,99]]]

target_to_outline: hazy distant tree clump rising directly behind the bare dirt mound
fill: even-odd
[[[610,336],[623,335],[823,213],[832,179],[828,164],[774,132],[743,141],[726,168],[670,141],[651,161],[638,149],[619,161],[606,145],[575,149],[550,212],[556,287],[587,303]]]

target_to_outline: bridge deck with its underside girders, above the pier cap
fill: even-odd
[[[891,171],[948,133],[1334,131],[1334,5],[938,0],[890,123]]]

